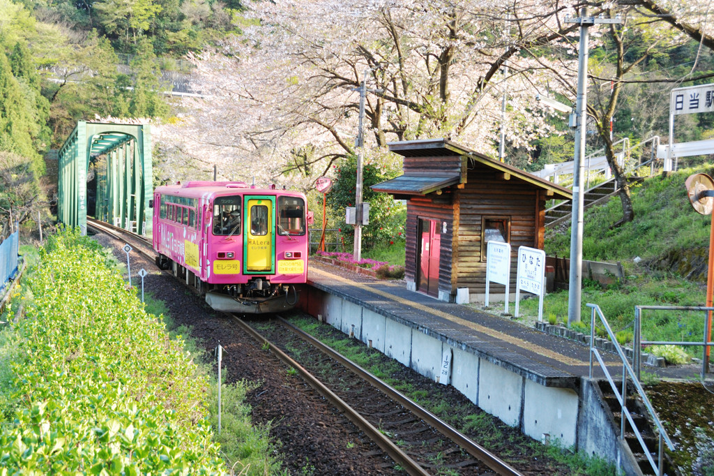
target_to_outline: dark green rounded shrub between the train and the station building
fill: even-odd
[[[362,200],[369,203],[369,224],[362,229],[363,247],[389,246],[404,242],[404,223],[406,207],[396,202],[389,194],[373,192],[371,185],[384,182],[397,175],[396,171],[380,169],[374,164],[364,164]],[[357,159],[345,159],[337,169],[337,180],[327,195],[328,205],[332,209],[343,210],[354,207],[355,187],[357,183]],[[354,228],[341,217],[338,224],[341,229],[341,241],[345,249],[351,249],[354,240]]]

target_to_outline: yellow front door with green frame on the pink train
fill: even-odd
[[[244,272],[275,272],[275,197],[246,195]]]

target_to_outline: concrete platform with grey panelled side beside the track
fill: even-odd
[[[301,307],[434,380],[537,440],[598,453],[622,465],[588,379],[589,349],[503,317],[408,291],[403,282],[373,279],[329,264],[308,269]],[[603,352],[611,375],[622,362]],[[446,360],[450,362],[444,371]],[[648,367],[661,377],[681,370]],[[687,370],[690,372],[690,370]],[[599,368],[595,378],[602,377]],[[603,440],[603,435],[612,435]],[[615,447],[615,450],[612,448]],[[629,473],[627,468],[625,473]]]

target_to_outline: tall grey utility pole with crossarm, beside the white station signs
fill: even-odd
[[[583,283],[583,177],[585,177],[585,138],[588,119],[588,28],[595,24],[619,24],[620,19],[587,16],[580,9],[579,18],[566,18],[565,23],[580,24],[578,52],[578,98],[575,114],[569,125],[575,128],[575,157],[573,158],[573,212],[570,222],[570,282],[568,284],[568,325],[580,322],[580,298]]]

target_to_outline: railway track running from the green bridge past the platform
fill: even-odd
[[[115,239],[129,242],[136,252],[154,261],[156,254],[146,239],[94,220],[88,226]],[[237,317],[234,322],[247,334],[251,334],[261,348],[268,347],[285,365],[295,369],[310,387],[375,442],[393,460],[393,468],[399,472],[409,475],[462,476],[521,474],[431,412],[284,319],[270,321],[276,323],[271,326],[270,337],[277,337],[279,342],[268,342],[268,338]],[[266,321],[263,319],[259,322]],[[311,358],[297,362],[279,348],[296,347],[299,345],[296,342],[309,347],[305,353]],[[318,372],[320,368],[328,372],[319,372],[320,376],[314,377],[313,372]],[[321,380],[328,381],[328,384]],[[349,445],[348,442],[345,444]],[[367,456],[376,457],[373,454]]]

